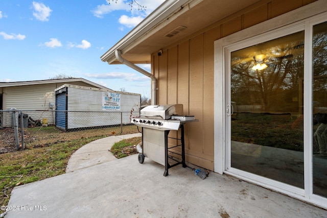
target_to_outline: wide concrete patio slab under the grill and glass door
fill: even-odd
[[[226,175],[202,180],[137,155],[13,189],[10,217],[327,217],[327,211]]]

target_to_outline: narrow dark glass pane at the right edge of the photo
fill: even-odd
[[[327,22],[313,27],[313,193],[327,197]]]

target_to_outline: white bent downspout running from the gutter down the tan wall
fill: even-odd
[[[122,51],[121,50],[116,50],[114,52],[116,59],[121,62],[122,64],[125,64],[127,66],[129,66],[130,68],[135,69],[138,72],[141,72],[141,74],[150,77],[151,81],[152,81],[152,88],[151,88],[151,105],[156,105],[157,104],[157,79],[154,77],[153,74],[151,74],[150,72],[142,69],[141,67],[136,66],[135,64],[129,62],[128,60],[126,60],[125,58],[122,57]]]

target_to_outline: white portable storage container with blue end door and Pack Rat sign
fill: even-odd
[[[56,92],[56,127],[64,131],[129,124],[141,94],[64,84]]]

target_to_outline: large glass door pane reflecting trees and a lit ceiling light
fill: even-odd
[[[304,31],[231,53],[231,167],[304,188],[303,66]]]

